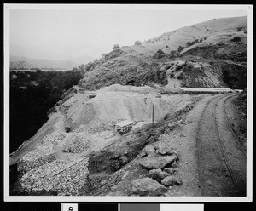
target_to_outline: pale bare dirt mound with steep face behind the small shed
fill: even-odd
[[[87,125],[90,128],[90,125],[106,123],[110,126],[109,130],[111,125],[122,120],[151,121],[153,105],[154,120],[158,121],[166,113],[174,111],[177,104],[187,97],[186,95],[166,95],[156,98],[156,94],[154,88],[115,84],[96,91],[96,97],[93,99],[86,99],[81,95],[73,96],[73,99],[65,103],[70,106],[67,116],[72,118],[77,127]]]

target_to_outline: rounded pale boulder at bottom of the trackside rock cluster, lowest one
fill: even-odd
[[[132,181],[132,193],[139,196],[161,196],[166,193],[164,185],[150,178],[142,178]]]

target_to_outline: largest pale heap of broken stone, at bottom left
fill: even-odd
[[[59,196],[78,196],[88,177],[88,159],[55,160],[32,169],[20,179],[21,190],[26,193],[57,191]]]

